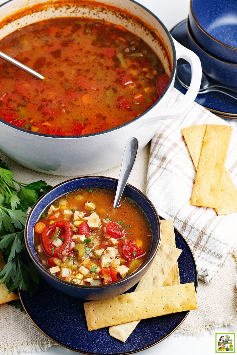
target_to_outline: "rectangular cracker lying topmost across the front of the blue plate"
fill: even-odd
[[[89,331],[197,308],[194,283],[135,291],[84,303]]]

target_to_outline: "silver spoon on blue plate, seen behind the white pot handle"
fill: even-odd
[[[177,66],[176,77],[179,83],[185,88],[188,89],[191,81],[191,67],[189,64],[181,64]],[[217,91],[222,94],[228,95],[233,99],[237,100],[237,89],[226,87],[219,84],[212,84],[205,73],[202,73],[201,85],[199,89],[199,94],[206,94],[208,92]]]

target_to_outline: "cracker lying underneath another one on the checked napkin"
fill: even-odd
[[[196,125],[181,130],[195,168],[198,166],[206,126]],[[221,189],[218,197],[217,206],[215,207],[217,215],[237,212],[237,190],[225,168],[223,170]]]

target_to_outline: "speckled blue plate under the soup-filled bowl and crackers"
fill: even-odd
[[[177,248],[183,250],[178,259],[180,283],[193,282],[197,289],[198,273],[193,253],[177,230],[175,237]],[[70,350],[93,355],[131,354],[147,349],[168,337],[189,313],[179,312],[142,320],[122,343],[110,337],[108,328],[89,332],[83,307],[85,301],[66,296],[45,280],[41,281],[38,291],[31,297],[21,290],[20,299],[28,317],[43,334]]]

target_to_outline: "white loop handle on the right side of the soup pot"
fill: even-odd
[[[172,37],[173,38],[173,37]],[[201,62],[198,56],[190,49],[178,43],[174,38],[173,42],[176,48],[176,55],[178,59],[185,59],[189,62],[192,71],[192,78],[190,86],[185,93],[184,97],[175,105],[168,108],[157,108],[157,116],[147,118],[147,121],[167,120],[178,117],[183,111],[187,110],[194,102],[198,94],[201,84]]]

